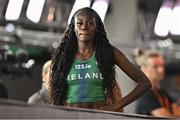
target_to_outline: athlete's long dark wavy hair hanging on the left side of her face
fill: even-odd
[[[67,94],[66,78],[77,51],[77,40],[73,30],[73,24],[69,25],[64,37],[55,50],[52,57],[52,74],[50,82],[50,103],[63,105]]]

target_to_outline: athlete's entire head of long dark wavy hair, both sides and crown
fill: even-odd
[[[101,18],[93,9],[86,7],[75,12],[69,26],[64,32],[61,43],[53,54],[50,81],[50,103],[52,104],[65,104],[67,95],[66,79],[78,48],[77,38],[74,32],[74,18],[82,11],[92,15],[96,20],[96,33],[93,40],[95,56],[104,78],[105,95],[106,97],[113,97],[113,88],[116,83],[113,48],[107,39]]]

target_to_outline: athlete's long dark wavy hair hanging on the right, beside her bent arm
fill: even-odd
[[[113,56],[112,46],[106,37],[106,32],[103,23],[98,22],[100,25],[97,28],[95,41],[96,45],[96,59],[99,63],[100,72],[104,78],[104,88],[106,97],[113,98],[113,88],[115,86],[115,61]]]

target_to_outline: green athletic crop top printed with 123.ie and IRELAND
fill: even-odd
[[[104,101],[103,77],[95,54],[86,61],[75,59],[68,78],[67,103]]]

